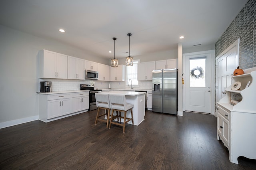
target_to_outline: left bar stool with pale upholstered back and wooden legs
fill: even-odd
[[[98,112],[95,120],[95,125],[97,124],[97,121],[102,121],[107,123],[107,128],[108,128],[108,122],[109,122],[109,117],[110,117],[110,103],[109,103],[109,98],[108,94],[106,93],[95,93],[95,100],[96,100],[96,106],[98,107]],[[104,113],[102,115],[99,115],[100,109],[106,109],[107,113]],[[105,119],[99,119],[99,117],[102,117],[107,115],[107,120]]]

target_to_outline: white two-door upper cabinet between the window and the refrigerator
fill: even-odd
[[[152,71],[155,69],[155,61],[138,63],[138,80],[152,80]]]

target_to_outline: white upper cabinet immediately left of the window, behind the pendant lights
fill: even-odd
[[[124,81],[125,80],[125,65],[118,65],[118,67],[110,67],[110,81]]]

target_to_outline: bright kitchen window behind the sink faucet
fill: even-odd
[[[138,62],[140,60],[133,60],[133,65],[132,66],[125,66],[126,68],[126,86],[129,84],[129,79],[132,80],[132,86],[138,86],[139,81],[137,79],[137,74],[138,74]]]

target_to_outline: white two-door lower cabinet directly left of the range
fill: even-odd
[[[72,93],[72,112],[79,112],[89,109],[89,93]]]

